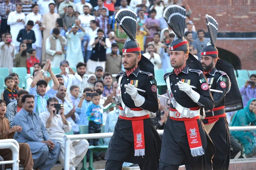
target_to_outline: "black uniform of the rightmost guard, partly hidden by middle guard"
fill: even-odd
[[[205,125],[215,122],[209,136],[216,148],[214,157],[212,159],[213,170],[228,170],[230,163],[230,133],[227,122],[227,117],[219,117],[225,113],[225,108],[218,110],[218,108],[225,106],[225,95],[230,89],[230,79],[223,71],[218,71],[213,68],[207,77],[209,87],[211,89],[223,91],[223,93],[212,92],[212,97],[215,102],[214,110],[205,111],[206,119],[203,119]],[[216,122],[217,121],[217,122]]]

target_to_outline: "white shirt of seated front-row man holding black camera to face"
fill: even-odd
[[[41,121],[46,126],[46,122],[49,119],[51,113],[49,111],[43,112],[39,115]],[[70,122],[67,122],[67,125],[63,124],[60,114],[55,114],[52,117],[52,123],[49,128],[46,128],[49,133],[50,139],[54,138],[63,138],[65,132],[69,132],[72,129]]]

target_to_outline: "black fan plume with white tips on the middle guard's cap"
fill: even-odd
[[[177,5],[167,6],[163,11],[163,18],[178,38],[183,37],[186,24],[186,9]]]

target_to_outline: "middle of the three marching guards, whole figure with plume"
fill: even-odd
[[[189,44],[183,37],[186,10],[171,5],[164,10],[163,17],[176,37],[170,47],[174,70],[164,75],[171,105],[170,119],[163,132],[159,170],[178,170],[182,164],[193,169],[212,169],[215,149],[200,119],[200,108],[212,110],[214,102],[202,65],[189,53]],[[209,157],[204,155],[208,150],[212,153]]]

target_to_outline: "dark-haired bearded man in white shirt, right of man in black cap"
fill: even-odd
[[[86,66],[87,66],[87,64],[84,63],[84,62],[79,62],[76,65],[76,72],[77,72],[77,74],[82,79],[82,82],[78,85],[78,87],[79,87],[79,94],[82,94],[84,88],[87,88],[88,85],[89,85],[88,84],[87,76],[85,75],[85,73],[86,73]]]

